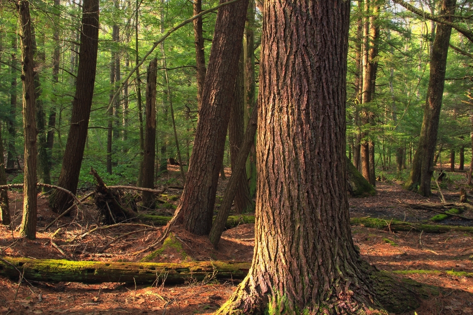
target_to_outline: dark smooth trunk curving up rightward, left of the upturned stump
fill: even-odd
[[[77,191],[92,96],[94,95],[99,44],[98,0],[84,0],[82,4],[80,43],[77,88],[72,101],[71,125],[58,181],[58,186],[68,189],[72,193]],[[67,193],[56,189],[49,198],[49,204],[54,211],[61,213],[72,205],[72,199]]]

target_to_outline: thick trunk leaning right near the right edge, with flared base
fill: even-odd
[[[443,0],[440,15],[445,15],[447,21],[452,21],[455,14],[456,0]],[[405,183],[407,189],[418,189],[423,196],[430,196],[430,181],[434,174],[434,154],[439,129],[440,108],[442,106],[443,86],[447,63],[448,44],[452,28],[439,24],[435,35],[432,60],[430,62],[429,87],[424,106],[424,119],[420,131],[419,144],[412,161],[412,169]]]

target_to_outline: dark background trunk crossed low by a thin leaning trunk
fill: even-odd
[[[244,64],[243,51],[238,62],[238,73],[236,75],[235,92],[231,100],[230,123],[228,125],[228,138],[230,141],[230,158],[232,174],[236,168],[236,158],[240,151],[245,132],[245,85],[244,85]],[[254,211],[253,200],[250,196],[250,188],[246,176],[240,176],[236,186],[235,212],[248,213]]]

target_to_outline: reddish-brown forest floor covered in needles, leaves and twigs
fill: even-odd
[[[170,167],[168,177],[178,177],[177,168]],[[230,174],[227,174],[227,178]],[[222,195],[227,181],[221,180]],[[462,180],[444,184],[446,199],[458,200]],[[440,203],[438,191],[429,199],[402,189],[400,182],[377,183],[377,194],[367,198],[350,198],[350,216],[392,218],[428,222],[435,214],[425,210],[403,208],[400,203]],[[167,201],[155,214],[170,216],[178,202],[179,189],[168,189],[159,198]],[[85,194],[85,192],[82,192]],[[32,257],[70,260],[139,261],[151,251],[141,252],[159,237],[160,231],[132,234],[111,245],[105,252],[98,250],[111,239],[141,227],[101,230],[87,235],[80,242],[71,239],[91,228],[84,224],[81,213],[63,218],[55,228],[38,232],[34,241],[20,238],[17,226],[21,222],[22,193],[9,192],[13,227],[0,227],[0,254],[10,257]],[[217,198],[218,203],[219,198]],[[86,201],[94,211],[92,201]],[[465,216],[472,217],[472,213]],[[45,196],[38,199],[38,229],[57,215],[48,209]],[[441,224],[473,225],[473,221],[448,219]],[[61,227],[62,226],[62,227]],[[58,229],[58,227],[61,227]],[[176,227],[172,233],[180,248],[169,247],[153,258],[154,262],[185,262],[190,260],[236,260],[251,262],[254,247],[254,224],[241,224],[224,232],[219,250],[214,250],[206,237],[195,237]],[[439,295],[422,302],[419,315],[473,314],[473,234],[447,232],[427,234],[414,231],[393,233],[383,229],[352,226],[353,239],[363,259],[380,270],[394,271],[423,284],[435,285]],[[59,249],[61,249],[61,251]],[[454,271],[454,272],[452,272]],[[464,272],[463,274],[461,272]],[[235,290],[237,281],[190,281],[183,285],[125,285],[117,283],[33,283],[19,285],[0,277],[0,314],[212,314]],[[413,312],[406,313],[413,314]]]

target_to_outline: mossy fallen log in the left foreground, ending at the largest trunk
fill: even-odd
[[[249,262],[199,261],[186,263],[69,261],[54,259],[0,259],[0,276],[18,280],[20,274],[28,281],[50,283],[104,282],[136,284],[183,284],[191,280],[243,279],[251,266]]]

